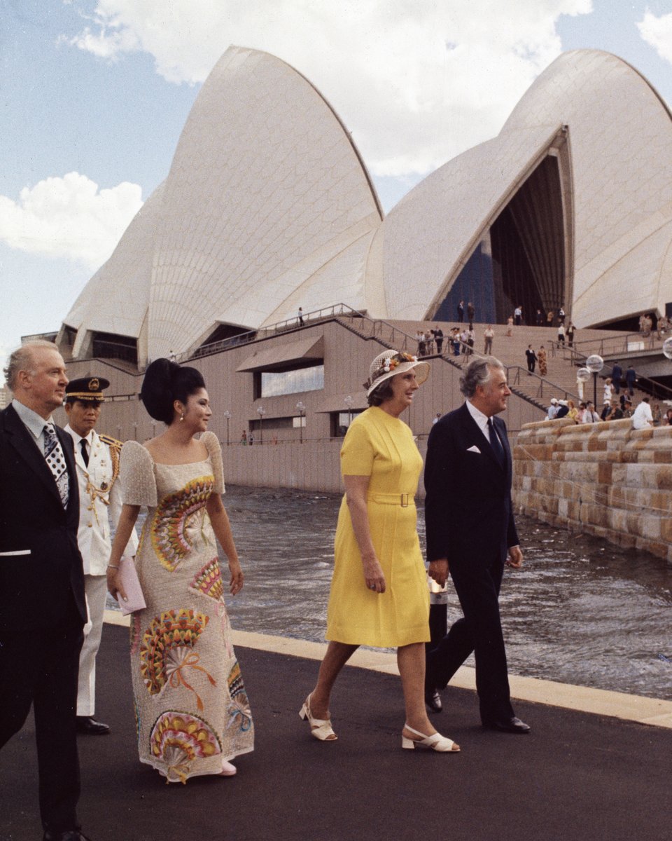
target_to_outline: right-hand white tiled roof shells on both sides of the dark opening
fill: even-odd
[[[432,315],[447,281],[563,125],[574,190],[572,319],[585,326],[644,309],[664,312],[672,300],[664,272],[672,220],[669,113],[617,56],[574,50],[538,77],[495,139],[444,164],[387,215],[376,240],[390,317]]]

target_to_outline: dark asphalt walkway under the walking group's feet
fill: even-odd
[[[165,785],[137,758],[128,630],[106,626],[97,661],[97,715],[112,733],[80,738],[79,811],[87,836],[92,841],[672,838],[669,702],[646,702],[639,717],[654,724],[642,724],[627,716],[517,701],[517,713],[533,733],[512,736],[483,731],[473,690],[450,686],[444,713],[433,720],[462,752],[402,751],[399,679],[388,674],[391,666],[374,663],[373,669],[344,669],[333,697],[339,740],[319,743],[297,715],[315,680],[317,664],[309,657],[318,648],[308,649],[308,657],[281,648],[237,644],[256,728],[255,752],[236,761],[238,775]],[[362,654],[365,662],[369,655]],[[375,661],[375,653],[370,658]],[[31,720],[0,753],[0,775],[0,838],[39,841]]]

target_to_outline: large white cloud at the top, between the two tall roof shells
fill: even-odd
[[[496,135],[591,0],[98,0],[71,44],[145,51],[202,82],[229,44],[295,66],[333,104],[376,175],[424,173]]]

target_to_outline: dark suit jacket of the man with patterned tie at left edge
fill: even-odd
[[[10,405],[0,412],[0,633],[49,632],[73,611],[87,621],[77,547],[72,439],[55,427],[70,474],[67,508],[34,438]]]

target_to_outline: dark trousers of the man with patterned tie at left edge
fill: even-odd
[[[80,792],[76,740],[81,617],[73,605],[54,627],[26,626],[0,635],[0,748],[34,708],[39,812],[53,832],[78,827]]]

